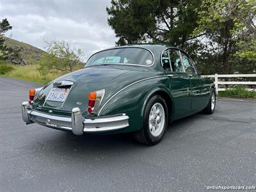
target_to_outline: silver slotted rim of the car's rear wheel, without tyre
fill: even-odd
[[[156,137],[161,134],[164,129],[164,121],[164,108],[162,104],[157,102],[152,106],[148,118],[149,131],[153,136]]]

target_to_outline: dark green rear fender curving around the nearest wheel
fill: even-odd
[[[120,132],[138,131],[143,126],[143,108],[148,97],[156,90],[168,90],[170,82],[166,76],[157,76],[140,81],[118,93],[100,111],[100,116],[125,113],[129,116],[129,127]]]

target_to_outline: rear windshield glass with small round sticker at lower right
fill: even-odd
[[[100,64],[132,64],[150,66],[154,62],[150,51],[142,48],[118,48],[94,54],[86,63],[86,67]]]

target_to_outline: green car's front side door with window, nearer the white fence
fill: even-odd
[[[184,70],[188,72],[191,80],[191,111],[201,111],[208,102],[209,86],[205,85],[205,79],[201,77],[193,61],[185,52],[180,52]]]

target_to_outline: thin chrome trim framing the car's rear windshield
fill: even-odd
[[[138,48],[138,49],[145,49],[145,50],[149,51],[153,58],[152,64],[151,65],[137,65],[137,64],[133,64],[133,63],[99,63],[98,65],[132,65],[132,66],[141,66],[141,67],[152,67],[155,64],[156,59],[155,59],[154,53],[150,49],[147,49],[145,47],[113,47],[113,48],[104,49],[102,51],[95,52],[92,54],[92,56],[99,52],[103,52],[103,51],[109,51],[109,50],[113,50],[113,49],[127,49],[127,48],[128,49],[129,48]],[[92,56],[90,56],[90,58],[92,58]],[[88,58],[88,60],[86,61],[86,64],[88,63],[90,58]],[[86,64],[84,65],[84,68],[86,68]],[[97,65],[90,65],[88,67],[92,67],[92,66],[97,66]]]

